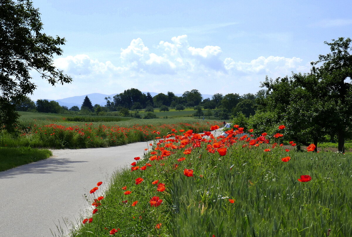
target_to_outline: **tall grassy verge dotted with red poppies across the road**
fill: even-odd
[[[210,125],[220,122],[202,121],[194,118],[142,119],[101,123],[82,123],[47,120],[21,121],[20,136],[0,132],[0,146],[33,148],[93,148],[124,145],[133,142],[149,141],[156,135],[172,133],[171,129],[193,129],[202,132]]]

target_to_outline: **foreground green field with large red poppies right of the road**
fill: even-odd
[[[352,236],[351,155],[284,148],[284,127],[217,128],[172,128],[107,190],[92,183],[71,235]]]

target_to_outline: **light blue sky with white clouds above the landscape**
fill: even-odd
[[[52,87],[33,73],[30,97],[62,99],[125,89],[256,93],[265,76],[309,72],[352,37],[350,0],[36,0],[43,32],[65,37],[55,66],[73,78]]]

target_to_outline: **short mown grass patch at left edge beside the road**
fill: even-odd
[[[49,150],[34,148],[6,148],[0,147],[0,171],[12,169],[23,164],[46,159],[52,155]]]

